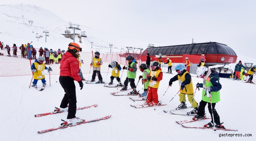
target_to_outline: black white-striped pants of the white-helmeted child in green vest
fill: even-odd
[[[198,107],[198,113],[197,114],[198,114],[198,116],[204,116],[204,112],[205,112],[204,108],[205,108],[207,103],[208,103],[209,113],[211,114],[211,122],[213,123],[212,112],[211,112],[211,103],[201,100],[200,105]],[[214,116],[214,122],[216,123],[216,125],[220,125],[221,121],[219,119],[219,114],[217,113],[217,111],[215,109],[215,105],[216,105],[216,103],[212,103],[212,111],[213,111],[213,116]]]

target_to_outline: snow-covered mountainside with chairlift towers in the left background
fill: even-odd
[[[31,20],[33,24],[29,25],[28,21]],[[61,35],[65,34],[66,27],[70,26],[69,22],[35,5],[0,5],[0,23],[0,41],[5,45],[12,46],[15,43],[19,47],[21,44],[33,41],[33,46],[36,48],[48,47],[48,49],[66,50],[68,43],[73,42],[70,38]],[[76,36],[75,42],[79,43],[83,47],[83,51],[86,52],[91,50],[110,52],[109,43],[113,44],[113,52],[120,52],[122,48],[125,51],[126,47],[146,48],[148,45],[148,42],[111,35],[83,25],[80,25],[79,28],[86,32],[87,38],[82,37],[82,43],[79,43],[79,38]],[[45,33],[43,33],[45,30],[49,31],[46,43]],[[69,30],[73,33],[72,29]],[[81,31],[76,30],[76,33],[81,34]],[[43,37],[39,38],[37,42],[35,36],[40,35]],[[93,42],[93,49],[91,49],[91,42]]]

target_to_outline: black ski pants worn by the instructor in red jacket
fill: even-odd
[[[67,108],[69,104],[67,119],[72,119],[76,117],[76,86],[74,80],[69,76],[59,76],[59,83],[65,92],[59,107]]]

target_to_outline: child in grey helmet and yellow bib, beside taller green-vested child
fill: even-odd
[[[119,84],[116,85],[116,87],[122,87],[122,83],[121,83],[121,80],[119,78],[119,74],[120,74],[120,71],[122,69],[120,64],[117,63],[116,61],[112,61],[111,65],[109,64],[108,67],[113,69],[112,75],[110,76],[110,82],[109,82],[108,85],[112,85],[114,78],[116,78],[118,83],[119,83]]]

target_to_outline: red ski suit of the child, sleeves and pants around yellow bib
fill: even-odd
[[[159,68],[159,70],[162,71],[161,68]],[[150,76],[150,74],[148,74],[148,76]],[[161,81],[162,79],[163,79],[163,72],[160,72],[157,77],[157,82]],[[147,91],[148,92],[148,97],[147,97],[148,101],[153,101],[154,103],[158,104],[158,94],[157,94],[158,88],[152,88],[150,86],[148,86],[148,87],[149,87],[148,91]]]

